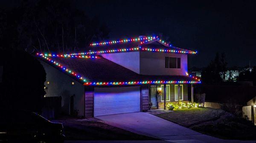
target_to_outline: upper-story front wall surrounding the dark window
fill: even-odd
[[[165,57],[179,57],[180,69],[165,68]],[[175,53],[140,52],[140,74],[142,75],[181,75],[188,71],[187,55]]]

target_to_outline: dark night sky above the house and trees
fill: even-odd
[[[16,4],[1,2],[6,6]],[[110,28],[110,39],[163,35],[173,46],[197,50],[189,67],[205,67],[225,52],[228,67],[256,65],[256,1],[76,0],[89,17]]]

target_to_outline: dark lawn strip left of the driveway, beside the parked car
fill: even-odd
[[[91,120],[61,120],[66,140],[158,140]]]

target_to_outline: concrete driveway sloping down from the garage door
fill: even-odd
[[[97,118],[112,126],[137,134],[168,140],[172,143],[255,143],[255,141],[222,140],[211,137],[145,112],[107,115]]]

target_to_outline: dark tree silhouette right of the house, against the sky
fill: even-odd
[[[225,61],[225,54],[216,53],[214,60],[202,71],[202,81],[204,83],[216,84],[224,81],[225,73],[227,71],[227,62]]]

